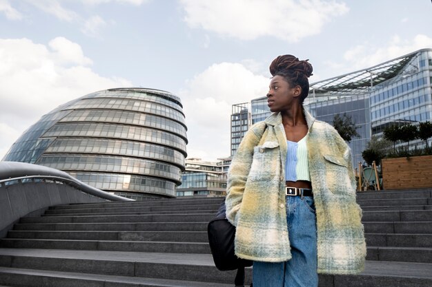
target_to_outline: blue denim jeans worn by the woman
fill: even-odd
[[[286,221],[293,257],[253,262],[253,287],[317,287],[317,225],[313,197],[287,196]]]

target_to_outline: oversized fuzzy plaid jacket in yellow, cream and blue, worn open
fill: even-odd
[[[351,151],[337,131],[304,111],[308,162],[317,215],[318,273],[364,269],[362,210],[355,202]],[[226,216],[237,227],[238,257],[264,262],[291,259],[285,207],[286,135],[272,114],[248,130],[228,171]]]

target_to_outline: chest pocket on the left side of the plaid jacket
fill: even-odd
[[[250,180],[271,180],[279,178],[280,149],[278,142],[264,142],[253,149],[253,160],[248,178]]]

